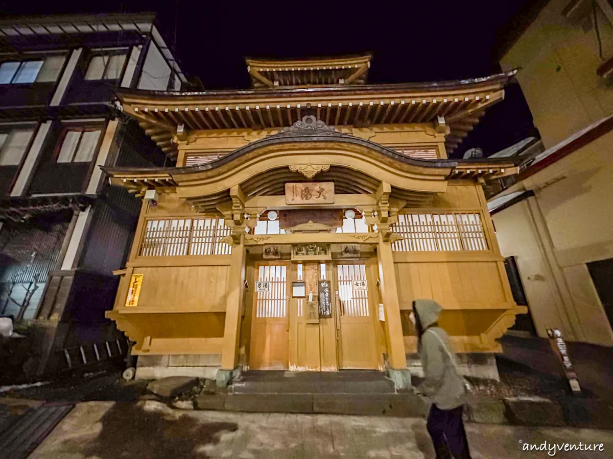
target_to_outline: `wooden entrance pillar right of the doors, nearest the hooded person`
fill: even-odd
[[[398,300],[398,285],[394,269],[392,244],[384,241],[383,234],[379,233],[377,247],[379,261],[379,280],[381,281],[381,297],[385,310],[385,335],[389,364],[394,370],[406,369],[405,340],[402,335],[400,321],[400,300]]]

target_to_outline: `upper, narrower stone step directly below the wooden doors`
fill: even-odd
[[[329,373],[247,371],[230,386],[232,394],[395,394],[380,371]]]

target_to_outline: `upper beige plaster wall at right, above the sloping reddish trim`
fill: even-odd
[[[595,31],[562,15],[568,3],[550,1],[500,61],[505,71],[521,67],[517,80],[546,148],[613,113],[613,90],[596,75]],[[604,60],[613,57],[612,18],[598,9]]]

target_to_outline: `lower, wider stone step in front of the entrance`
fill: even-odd
[[[423,417],[427,410],[414,394],[215,394],[197,397],[196,408],[396,417]]]

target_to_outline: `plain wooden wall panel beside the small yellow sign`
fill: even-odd
[[[143,274],[137,308],[224,312],[230,266],[139,267]]]

